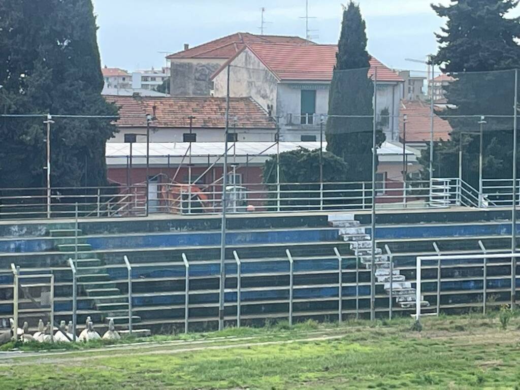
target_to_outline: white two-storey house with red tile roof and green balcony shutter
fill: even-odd
[[[284,141],[319,140],[320,119],[329,108],[329,86],[336,64],[336,45],[252,43],[245,44],[212,76],[214,95],[251,96],[278,118]],[[344,71],[347,85],[360,78],[374,79],[377,69],[378,121],[386,122],[388,141],[398,139],[399,102],[404,80],[375,58],[370,69]],[[359,113],[362,114],[362,113]],[[381,114],[388,115],[381,118]]]

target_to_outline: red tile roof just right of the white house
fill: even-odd
[[[431,123],[430,123],[430,104],[422,101],[401,100],[399,110],[399,137],[403,138],[403,122],[404,115],[406,119],[406,142],[424,142],[430,141]],[[447,120],[433,117],[433,138],[449,139],[452,128]]]

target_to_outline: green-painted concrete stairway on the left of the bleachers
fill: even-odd
[[[50,237],[55,240],[56,249],[60,252],[74,252],[76,248],[75,229],[49,230]],[[105,269],[100,268],[103,262],[97,257],[92,246],[81,237],[82,231],[77,231],[78,259],[76,264],[77,285],[79,295],[89,297],[94,308],[101,312],[101,317],[107,323],[113,319],[116,324],[128,323],[128,296],[111,281]],[[71,257],[74,257],[73,255]],[[133,323],[140,317],[132,316]]]

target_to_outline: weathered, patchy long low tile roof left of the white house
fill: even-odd
[[[105,96],[109,102],[120,107],[120,127],[146,127],[146,115],[153,114],[154,127],[189,127],[193,115],[193,127],[224,128],[226,99],[219,97],[141,97]],[[275,128],[275,122],[256,101],[249,97],[231,98],[229,101],[230,123],[237,119],[239,128]],[[234,124],[233,124],[234,125]]]

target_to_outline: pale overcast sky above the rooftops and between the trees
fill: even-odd
[[[161,67],[160,51],[183,48],[235,32],[259,33],[265,7],[266,34],[305,36],[305,0],[93,0],[102,64],[129,71]],[[435,0],[449,3],[449,0]],[[347,0],[344,0],[347,3]],[[424,69],[405,58],[435,53],[434,32],[445,21],[431,0],[359,0],[367,22],[368,49],[387,66]],[[337,43],[341,1],[309,0],[309,28],[317,43]]]

